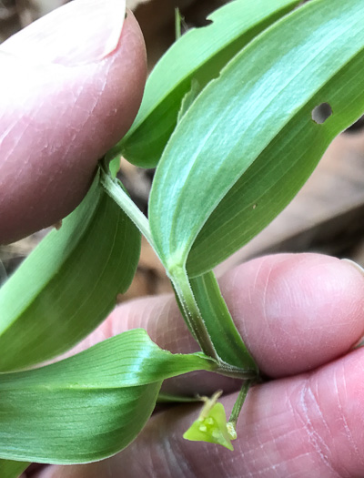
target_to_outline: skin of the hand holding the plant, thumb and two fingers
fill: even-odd
[[[96,4],[104,12],[105,5]],[[116,21],[115,15],[105,25],[109,21]],[[91,25],[89,32],[87,40],[79,41],[91,55]],[[21,57],[20,42],[13,44],[13,52]],[[7,45],[12,48],[11,42]],[[0,79],[2,91],[6,86],[8,92],[0,116],[1,239],[6,241],[50,225],[75,208],[97,159],[125,133],[136,113],[145,59],[131,15],[114,52],[104,60],[62,68],[62,74],[57,66],[26,66],[29,56],[0,53],[0,58],[8,76]],[[248,393],[235,452],[184,441],[182,433],[198,412],[198,405],[184,405],[157,413],[136,441],[113,458],[45,467],[37,478],[364,475],[364,351],[350,351],[364,333],[359,271],[319,255],[279,255],[227,273],[221,287],[238,330],[271,379]],[[162,297],[120,306],[74,351],[135,327],[147,329],[170,351],[197,350],[174,300]],[[222,388],[227,410],[238,390],[237,381],[202,372],[166,386],[180,394],[212,394]]]

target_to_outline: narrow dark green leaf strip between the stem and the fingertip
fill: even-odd
[[[218,356],[238,369],[258,372],[227,309],[214,273],[207,272],[190,280],[190,284]]]

